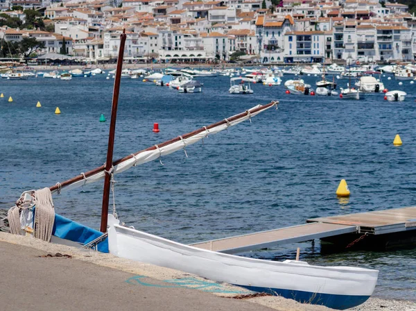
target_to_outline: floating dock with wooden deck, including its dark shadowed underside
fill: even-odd
[[[200,249],[232,254],[322,239],[345,248],[349,244],[354,244],[358,237],[363,239],[363,235],[369,237],[365,242],[385,248],[416,243],[416,206],[313,218],[300,226],[214,239],[191,245]]]

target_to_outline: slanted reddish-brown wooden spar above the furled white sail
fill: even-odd
[[[278,105],[278,104],[279,104],[279,101],[272,101],[271,103],[268,103],[267,105],[264,105],[264,106],[261,106],[259,108],[255,108],[255,109],[251,110],[250,113],[261,112],[262,110],[266,110],[266,109],[270,108],[270,106]],[[236,115],[234,117],[230,117],[227,120],[224,119],[224,120],[218,121],[218,122],[216,122],[214,124],[210,124],[209,126],[206,126],[206,128],[209,130],[210,128],[214,128],[216,126],[220,126],[220,125],[226,124],[227,121],[232,122],[232,121],[235,121],[237,119],[240,119],[241,117],[245,117],[248,114],[249,114],[249,112],[247,110],[245,112],[240,113],[239,115]],[[187,139],[188,137],[191,137],[192,135],[196,135],[196,134],[199,134],[199,133],[205,132],[205,131],[206,131],[205,127],[198,128],[195,131],[192,131],[190,133],[187,133],[187,134],[182,135],[182,138],[183,139]],[[158,144],[157,146],[159,148],[161,148],[163,146],[167,146],[168,144],[172,144],[173,142],[177,142],[177,141],[180,141],[180,137],[179,136],[173,138],[172,140],[168,140],[166,142],[162,142],[162,144]],[[145,152],[145,151],[151,151],[151,150],[155,150],[155,149],[156,149],[156,146],[150,146],[147,149],[144,149],[144,150],[141,150],[141,151],[137,151],[136,153],[133,153],[132,155],[130,154],[130,155],[125,156],[124,158],[121,158],[119,160],[116,160],[116,161],[114,161],[112,163],[112,165],[113,166],[119,165],[121,162],[124,162],[125,160],[129,160],[129,159],[133,158],[133,156],[138,155],[139,153],[142,153],[142,152]],[[84,174],[85,177],[84,177],[83,174],[80,174],[80,175],[78,175],[76,177],[73,177],[73,178],[71,178],[69,180],[63,181],[62,183],[57,183],[56,185],[53,185],[52,187],[49,187],[49,189],[51,190],[51,192],[56,191],[56,190],[60,190],[60,188],[67,187],[67,186],[69,186],[69,185],[71,185],[73,183],[76,183],[76,182],[78,182],[80,180],[83,180],[84,178],[88,178],[89,176],[92,176],[94,174],[97,174],[97,173],[103,171],[104,169],[105,169],[105,166],[104,165],[101,165],[101,167],[97,167],[96,169],[92,169],[91,171],[87,171]]]

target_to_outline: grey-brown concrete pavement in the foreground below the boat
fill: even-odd
[[[161,280],[146,278],[148,286],[127,283],[135,274],[73,258],[40,257],[46,254],[0,242],[2,310],[272,310],[196,289],[164,287]]]

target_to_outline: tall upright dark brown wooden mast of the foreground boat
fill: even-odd
[[[111,181],[110,171],[112,170],[112,162],[113,162],[112,155],[113,155],[113,150],[114,150],[114,135],[116,133],[117,105],[119,104],[119,92],[120,92],[121,70],[123,69],[125,37],[126,37],[125,29],[123,29],[123,33],[120,35],[119,59],[117,60],[116,79],[114,81],[110,134],[108,135],[107,162],[105,162],[105,171],[107,171],[107,174],[105,174],[105,179],[104,179],[103,207],[101,209],[100,230],[102,233],[107,232],[108,201],[110,199],[110,181]]]

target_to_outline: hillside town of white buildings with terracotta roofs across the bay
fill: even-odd
[[[115,61],[123,28],[131,62],[392,62],[416,55],[414,13],[377,0],[6,0],[0,6],[2,42],[40,42],[27,57]],[[24,26],[32,10],[42,27],[4,22],[8,16]],[[3,51],[3,58],[11,55]]]

